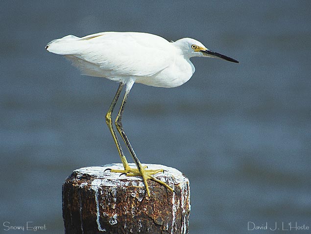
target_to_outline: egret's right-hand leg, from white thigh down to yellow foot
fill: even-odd
[[[147,191],[147,195],[150,196],[150,191],[149,191],[149,187],[148,187],[148,184],[147,184],[147,179],[151,179],[153,181],[156,181],[157,183],[161,184],[161,185],[164,185],[165,187],[167,187],[169,190],[173,191],[173,189],[171,187],[169,187],[166,183],[164,183],[163,181],[161,180],[158,180],[156,179],[155,177],[153,177],[152,175],[153,174],[156,174],[158,172],[164,172],[163,169],[157,169],[157,170],[147,170],[145,169],[146,167],[144,167],[141,162],[139,161],[139,159],[137,158],[134,150],[133,150],[133,147],[131,146],[127,136],[125,135],[125,132],[123,130],[123,126],[122,126],[122,122],[121,122],[121,117],[122,117],[122,114],[123,114],[123,110],[124,110],[124,105],[127,101],[127,97],[128,97],[128,94],[131,90],[133,86],[133,83],[130,83],[126,86],[126,91],[125,91],[125,94],[124,94],[124,97],[123,97],[123,100],[122,100],[122,104],[121,104],[121,107],[120,107],[120,110],[119,110],[119,113],[117,115],[117,118],[116,118],[116,121],[115,121],[115,124],[116,124],[116,127],[117,127],[117,130],[118,132],[120,133],[122,139],[124,140],[128,150],[130,151],[130,154],[132,155],[132,158],[138,168],[138,171],[126,171],[123,172],[126,174],[126,176],[142,176],[143,179],[144,179],[144,185],[146,187],[146,191]],[[113,170],[112,170],[113,171]],[[113,171],[113,172],[117,172],[117,171]]]

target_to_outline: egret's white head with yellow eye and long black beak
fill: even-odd
[[[202,43],[192,38],[182,38],[174,42],[174,45],[180,48],[185,56],[191,57],[211,57],[227,60],[233,63],[239,63],[239,61],[230,58],[226,55],[213,52],[206,48]]]

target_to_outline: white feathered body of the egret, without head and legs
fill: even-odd
[[[50,42],[47,50],[65,55],[85,75],[118,82],[132,79],[150,86],[176,87],[194,72],[173,43],[149,33],[102,32],[82,38],[68,35]]]

